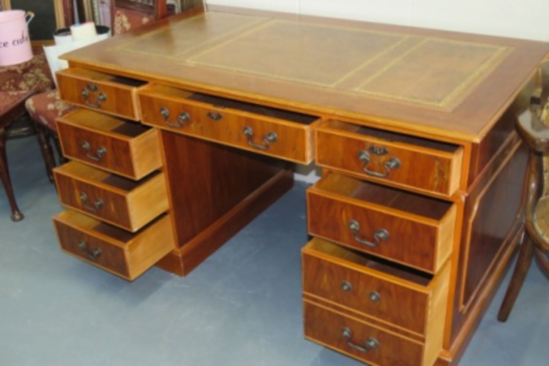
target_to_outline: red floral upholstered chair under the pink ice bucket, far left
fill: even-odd
[[[12,208],[12,220],[23,214],[15,202],[5,151],[5,127],[25,112],[25,100],[31,95],[51,90],[53,80],[46,57],[38,54],[25,63],[0,67],[0,178]]]

